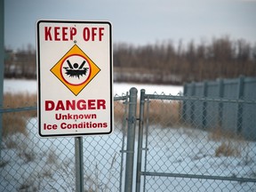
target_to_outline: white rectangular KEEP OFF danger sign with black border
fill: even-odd
[[[111,24],[39,20],[36,30],[39,135],[111,133]]]

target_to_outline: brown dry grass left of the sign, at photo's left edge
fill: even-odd
[[[36,106],[36,94],[4,93],[4,108],[22,108]],[[3,136],[15,132],[27,135],[26,123],[28,117],[36,116],[36,111],[7,112],[3,114]]]

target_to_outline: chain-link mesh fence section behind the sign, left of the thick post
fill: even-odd
[[[124,188],[127,97],[115,97],[115,132],[83,138],[84,191]],[[39,138],[36,107],[4,108],[1,115],[0,191],[76,191],[75,139]]]

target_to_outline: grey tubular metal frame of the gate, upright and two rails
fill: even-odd
[[[172,172],[147,172],[147,153],[148,153],[148,118],[145,120],[144,109],[145,103],[147,103],[146,111],[148,111],[148,103],[150,100],[204,100],[204,101],[221,101],[221,102],[236,102],[236,103],[246,103],[246,104],[256,104],[255,100],[225,100],[225,99],[208,99],[208,98],[191,98],[186,96],[172,96],[172,95],[156,95],[156,94],[146,94],[145,90],[140,90],[140,117],[139,117],[139,137],[138,137],[138,155],[137,155],[137,172],[136,172],[136,192],[140,192],[141,188],[141,177],[144,177],[144,190],[145,190],[145,180],[147,176],[158,176],[158,177],[175,177],[175,178],[188,178],[188,179],[203,179],[203,180],[229,180],[229,181],[239,181],[239,182],[256,182],[256,179],[252,178],[238,178],[238,177],[222,177],[222,176],[211,176],[211,175],[199,175],[199,174],[180,174]],[[143,148],[143,129],[146,123],[146,146]],[[141,170],[142,153],[145,152],[145,171]],[[127,190],[127,191],[132,191]]]

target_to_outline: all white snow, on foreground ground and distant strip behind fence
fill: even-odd
[[[146,93],[182,92],[182,87],[172,85],[114,84],[114,94],[125,94],[131,87],[139,92],[145,89]],[[36,81],[4,80],[4,92],[36,93],[36,90]],[[31,118],[28,136],[16,133],[4,139],[0,191],[74,191],[74,139],[40,139],[36,124],[37,119]],[[147,172],[256,178],[256,142],[235,140],[235,146],[241,149],[239,156],[215,156],[221,141],[209,139],[209,132],[183,127],[163,129],[153,124],[148,127],[148,143],[145,136],[143,146],[148,150],[143,152],[143,159],[147,158],[147,164],[142,160],[142,171],[147,167]],[[108,136],[84,137],[85,189],[117,191],[120,178],[124,181],[124,172],[120,174],[120,150],[125,149],[122,140],[120,129]],[[138,140],[135,142],[137,146]],[[12,148],[8,147],[11,144]],[[256,191],[253,182],[157,176],[148,176],[145,182],[146,191]]]

